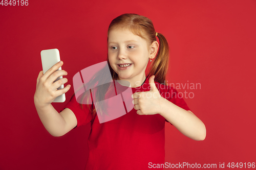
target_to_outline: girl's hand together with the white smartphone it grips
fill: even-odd
[[[41,52],[43,71],[39,72],[34,95],[35,104],[42,107],[52,102],[65,102],[65,93],[71,87],[68,85],[63,88],[63,84],[67,83],[68,79],[62,76],[67,75],[68,72],[61,70],[63,62],[58,62],[60,60],[58,50],[51,49],[45,52]]]

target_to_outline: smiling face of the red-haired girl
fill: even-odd
[[[130,30],[111,30],[108,37],[108,57],[118,80],[129,81],[132,87],[140,86],[146,78],[145,69],[151,57],[149,49],[147,42]]]

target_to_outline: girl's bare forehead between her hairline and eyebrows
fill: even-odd
[[[108,43],[137,42],[144,43],[140,36],[133,34],[129,29],[113,29],[109,32]]]

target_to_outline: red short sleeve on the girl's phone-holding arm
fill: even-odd
[[[67,103],[67,105],[63,107],[63,109],[61,109],[61,110],[64,110],[65,108],[69,108],[70,110],[72,110],[72,112],[75,114],[77,119],[76,127],[79,127],[81,125],[86,125],[92,120],[92,112],[89,109],[89,107],[92,109],[92,104],[90,105],[83,104],[82,108],[79,105],[80,104],[76,101],[75,95],[73,95],[72,98],[70,99],[70,102]]]

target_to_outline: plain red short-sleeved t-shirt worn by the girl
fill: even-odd
[[[190,110],[176,89],[155,84],[163,98]],[[149,90],[148,78],[140,87],[132,88],[133,93]],[[121,117],[100,124],[97,114],[92,115],[86,105],[81,109],[75,97],[64,108],[74,112],[77,127],[91,122],[86,169],[150,169],[150,162],[164,163],[167,120],[160,114],[138,115],[133,108]]]

